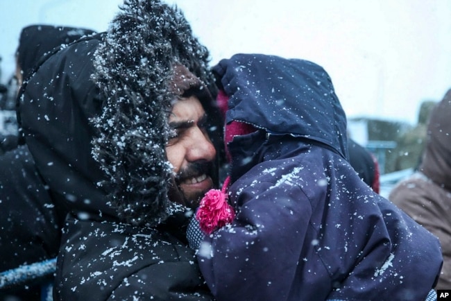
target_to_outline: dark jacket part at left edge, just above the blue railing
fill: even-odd
[[[0,156],[0,272],[56,257],[64,214],[56,207],[28,148]]]

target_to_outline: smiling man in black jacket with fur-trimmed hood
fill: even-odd
[[[211,299],[185,238],[189,207],[217,182],[207,59],[180,10],[127,0],[107,33],[49,55],[24,82],[26,144],[69,212],[55,300]]]

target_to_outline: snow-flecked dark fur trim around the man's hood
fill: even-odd
[[[214,87],[208,57],[182,12],[157,0],[126,0],[94,53],[92,79],[105,99],[92,120],[92,153],[122,221],[153,226],[180,209],[167,197],[167,114],[176,97],[168,87],[176,63]]]

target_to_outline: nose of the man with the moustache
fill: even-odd
[[[194,128],[192,136],[192,143],[187,150],[187,160],[189,162],[214,160],[216,149],[207,133],[203,132],[200,128]]]

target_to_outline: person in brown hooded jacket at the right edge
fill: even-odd
[[[437,289],[451,287],[451,90],[432,111],[418,172],[398,183],[389,200],[436,235],[443,252]]]

